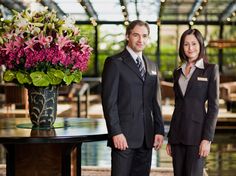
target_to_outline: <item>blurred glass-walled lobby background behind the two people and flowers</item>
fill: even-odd
[[[220,110],[215,139],[204,172],[208,176],[235,175],[235,0],[2,0],[0,5],[2,18],[10,18],[12,9],[22,11],[47,6],[62,18],[64,15],[72,16],[81,31],[88,30],[84,34],[93,47],[89,70],[83,74],[79,84],[59,88],[58,118],[104,119],[100,94],[105,58],[122,49],[124,29],[129,21],[147,21],[151,26],[152,39],[149,50],[145,52],[160,69],[166,132],[174,107],[172,71],[179,63],[179,37],[187,28],[198,28],[205,37],[210,62],[218,64],[220,71]],[[0,119],[3,118],[29,118],[29,112],[27,89],[18,85],[9,86],[1,76]],[[162,149],[153,152],[151,176],[173,175],[171,158],[165,151],[166,142],[165,138]],[[74,154],[71,175],[76,175],[73,157]],[[109,175],[110,149],[106,141],[83,143],[81,165],[83,176]],[[1,145],[0,176],[5,175],[6,150]]]

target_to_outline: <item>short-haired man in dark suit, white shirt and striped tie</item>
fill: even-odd
[[[163,143],[157,67],[142,54],[149,33],[146,22],[131,22],[126,48],[108,57],[104,65],[102,105],[112,149],[112,176],[148,176],[152,147],[158,150]]]

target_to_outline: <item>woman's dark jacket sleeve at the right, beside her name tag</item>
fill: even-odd
[[[212,70],[207,93],[207,115],[204,124],[203,139],[212,141],[219,111],[219,71],[217,65]]]

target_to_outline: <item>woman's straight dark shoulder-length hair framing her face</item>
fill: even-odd
[[[188,61],[188,57],[184,53],[184,41],[185,41],[186,36],[191,35],[191,34],[196,37],[196,39],[198,40],[199,45],[200,45],[200,52],[199,52],[197,60],[203,58],[204,62],[208,62],[207,57],[206,57],[206,49],[204,46],[203,36],[202,36],[201,32],[199,32],[199,30],[197,30],[197,29],[188,29],[182,34],[182,36],[180,38],[180,45],[179,45],[179,57],[180,57],[181,61],[182,62]]]

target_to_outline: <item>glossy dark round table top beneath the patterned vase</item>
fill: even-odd
[[[34,129],[29,118],[0,119],[0,143],[80,143],[107,139],[104,119],[57,118],[54,128]]]

